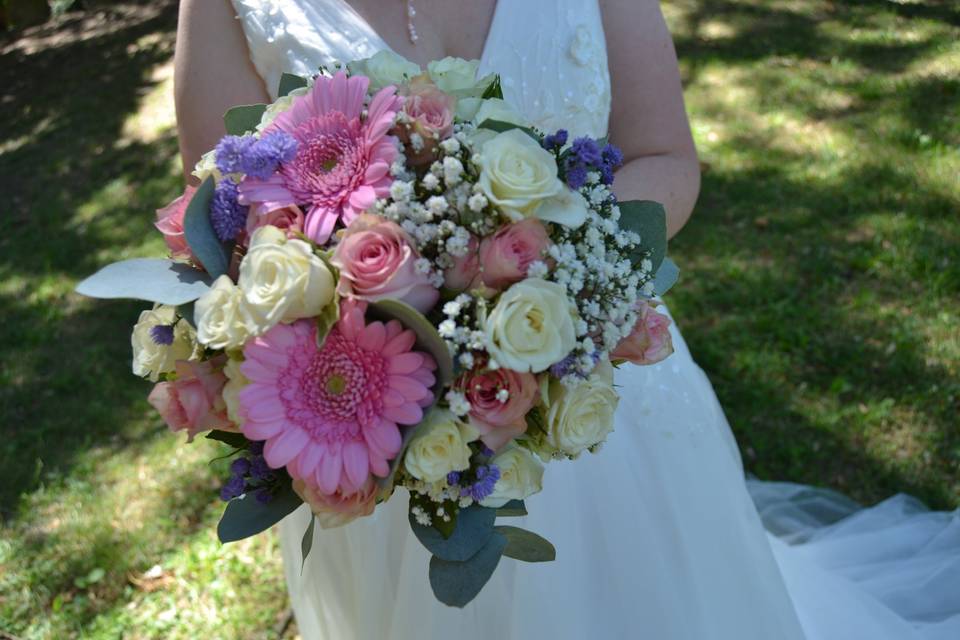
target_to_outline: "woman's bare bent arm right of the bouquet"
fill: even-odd
[[[621,200],[662,202],[673,236],[700,191],[673,39],[657,0],[602,0],[600,6],[613,92],[610,140],[626,159],[615,191]]]

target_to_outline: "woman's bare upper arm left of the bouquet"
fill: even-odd
[[[226,134],[223,114],[269,102],[230,0],[182,0],[174,57],[180,157],[188,182],[200,156]]]

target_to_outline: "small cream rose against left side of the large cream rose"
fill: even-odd
[[[211,349],[242,347],[256,332],[243,292],[227,275],[214,280],[210,290],[197,300],[193,313],[197,340]]]

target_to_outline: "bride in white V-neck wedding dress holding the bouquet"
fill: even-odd
[[[275,97],[283,71],[384,49],[424,66],[479,59],[539,128],[609,134],[629,160],[621,199],[665,203],[671,234],[690,215],[696,151],[656,0],[183,0],[185,167],[223,134],[228,107]],[[663,363],[619,370],[604,449],[548,465],[528,500],[522,526],[557,561],[504,560],[463,610],[430,592],[404,496],[317,531],[302,571],[309,514],[289,516],[280,534],[303,637],[960,638],[960,519],[904,497],[858,510],[829,492],[748,486],[709,381],[675,330],[673,341]]]

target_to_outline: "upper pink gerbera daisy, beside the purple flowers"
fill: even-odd
[[[332,78],[318,77],[308,93],[294,98],[264,134],[279,129],[296,138],[296,156],[266,180],[245,178],[240,201],[264,203],[268,209],[306,205],[304,232],[322,243],[338,219],[350,224],[386,196],[397,156],[396,138],[387,131],[403,99],[394,87],[385,87],[361,117],[369,83],[341,71]]]

